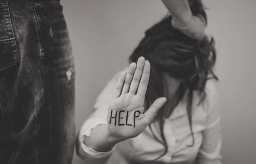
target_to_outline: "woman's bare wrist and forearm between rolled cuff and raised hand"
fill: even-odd
[[[98,125],[92,129],[90,137],[84,137],[84,144],[87,147],[99,152],[110,151],[121,140],[113,138],[107,132],[107,125]]]

